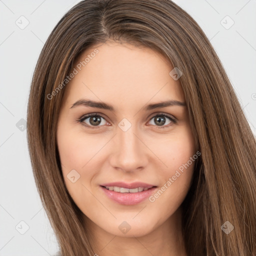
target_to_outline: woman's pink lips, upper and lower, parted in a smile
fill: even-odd
[[[121,193],[116,191],[111,191],[106,189],[104,186],[119,186],[119,187],[125,187],[125,188],[136,188],[136,187],[150,187],[145,191],[136,192],[136,193]],[[102,184],[100,187],[104,191],[104,193],[115,202],[118,202],[120,204],[124,205],[133,205],[138,204],[148,198],[150,194],[153,193],[153,191],[157,188],[156,186],[149,185],[146,183],[141,182],[135,182],[131,184],[123,183],[123,182],[113,182],[113,183],[107,183]]]

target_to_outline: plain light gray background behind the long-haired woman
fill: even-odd
[[[57,21],[77,2],[0,0],[0,256],[53,255],[58,249],[34,184],[22,125],[42,46]],[[256,134],[256,0],[174,2],[210,39]],[[232,20],[226,15],[234,21],[228,29]],[[26,19],[29,24],[20,29]],[[26,226],[20,221],[29,227],[24,234],[20,232]]]

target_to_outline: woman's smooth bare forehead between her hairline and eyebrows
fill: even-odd
[[[148,47],[117,42],[97,44],[87,48],[73,68],[77,73],[65,91],[69,106],[83,97],[116,104],[120,110],[148,101],[184,101],[179,81],[169,75],[171,63]]]

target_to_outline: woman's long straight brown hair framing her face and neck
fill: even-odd
[[[84,0],[52,30],[36,64],[27,139],[36,186],[62,256],[93,255],[82,212],[62,177],[56,124],[65,87],[49,96],[89,46],[107,40],[161,52],[179,78],[201,152],[182,203],[188,255],[256,255],[256,143],[209,40],[170,0]],[[234,229],[226,234],[221,225]]]

